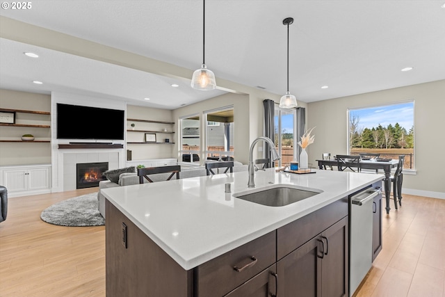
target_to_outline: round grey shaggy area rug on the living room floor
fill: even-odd
[[[97,209],[97,193],[81,195],[51,205],[42,211],[40,218],[47,223],[68,227],[105,225]]]

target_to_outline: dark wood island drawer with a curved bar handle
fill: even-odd
[[[275,263],[275,234],[270,232],[197,266],[195,296],[223,296]]]

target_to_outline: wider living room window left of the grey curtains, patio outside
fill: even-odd
[[[206,111],[206,151],[207,159],[233,160],[234,141],[234,109],[233,106]]]

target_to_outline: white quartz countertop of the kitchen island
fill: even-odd
[[[271,168],[255,172],[253,189],[247,186],[248,172],[234,172],[106,188],[102,193],[189,270],[383,178],[384,175],[331,170],[296,175]],[[226,183],[231,184],[232,193],[225,193]],[[276,184],[322,193],[283,207],[268,207],[233,196]]]

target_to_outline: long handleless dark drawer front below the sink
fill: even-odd
[[[348,216],[348,198],[342,198],[277,230],[277,260],[302,246],[334,223]]]

